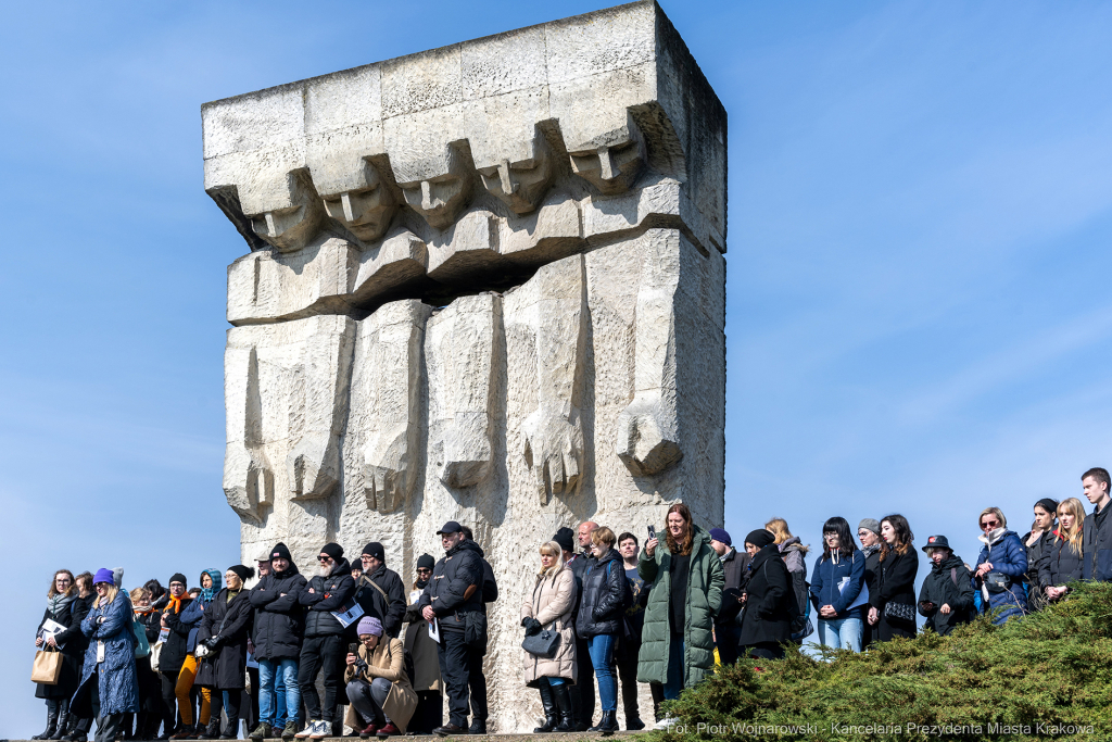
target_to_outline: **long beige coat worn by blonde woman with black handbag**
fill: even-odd
[[[559,632],[559,646],[556,649],[556,656],[552,659],[538,657],[522,650],[525,657],[525,684],[529,687],[537,687],[545,677],[563,677],[573,685],[578,680],[575,623],[572,621],[575,600],[575,575],[568,566],[562,567],[554,575],[537,575],[533,592],[525,596],[522,619],[536,619],[543,629]]]

